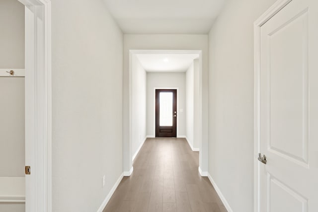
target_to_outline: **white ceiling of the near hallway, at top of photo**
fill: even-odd
[[[207,34],[225,0],[104,0],[126,34]]]

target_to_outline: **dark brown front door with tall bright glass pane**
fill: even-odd
[[[156,89],[156,137],[177,137],[175,89]]]

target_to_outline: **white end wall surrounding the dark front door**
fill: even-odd
[[[185,136],[185,73],[147,72],[147,136],[155,132],[155,87],[177,87],[177,137]]]

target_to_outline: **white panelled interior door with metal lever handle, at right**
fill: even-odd
[[[318,212],[318,1],[260,28],[261,212]]]

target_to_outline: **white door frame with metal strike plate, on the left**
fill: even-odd
[[[51,0],[25,5],[26,212],[52,211]]]

